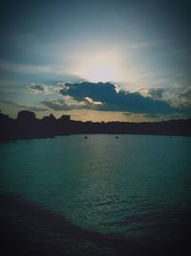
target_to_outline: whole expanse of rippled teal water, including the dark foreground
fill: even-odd
[[[0,161],[2,256],[191,255],[191,138],[17,140]]]

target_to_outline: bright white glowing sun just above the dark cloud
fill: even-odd
[[[75,74],[87,81],[116,81],[117,63],[108,56],[92,56],[80,63]]]

